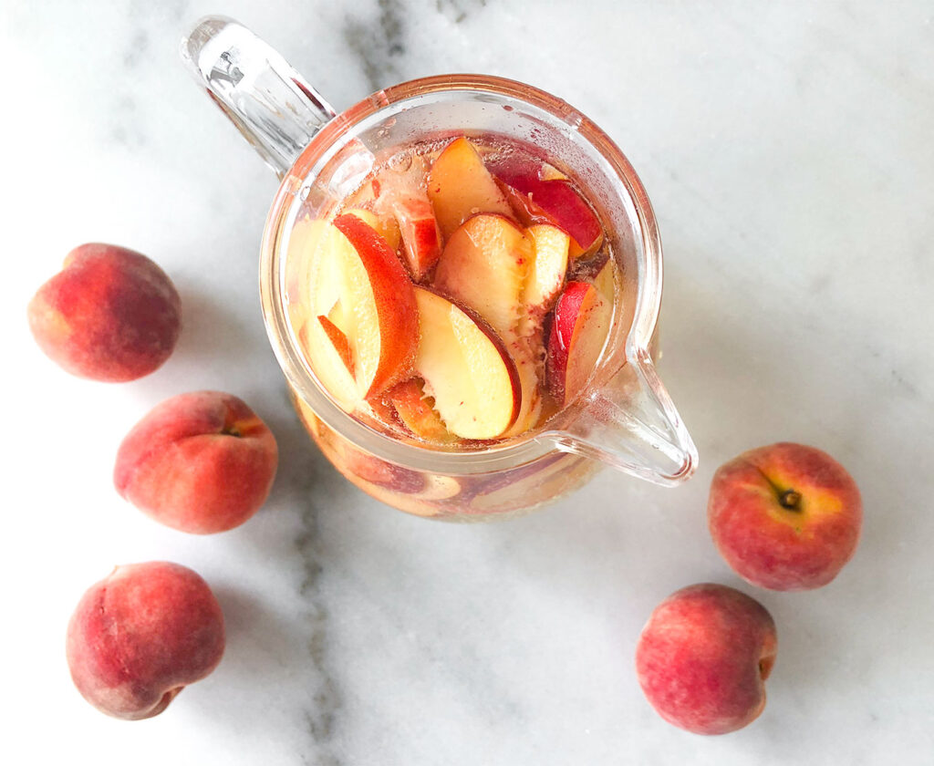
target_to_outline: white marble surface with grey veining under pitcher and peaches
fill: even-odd
[[[276,179],[177,61],[199,16],[276,45],[339,108],[480,71],[565,97],[626,151],[666,247],[664,376],[701,452],[679,489],[604,472],[529,518],[408,518],[305,440],[259,308]],[[5,147],[0,632],[7,763],[927,764],[934,759],[934,10],[895,3],[267,0],[0,7]],[[149,253],[185,329],[141,381],[66,376],[24,319],[78,243]],[[244,397],[283,460],[246,526],[199,538],[124,504],[123,433],[183,390]],[[706,532],[715,467],[790,439],[838,456],[866,504],[828,588],[747,587]],[[64,626],[118,562],[217,589],[218,671],[158,718],[72,688]],[[715,580],[772,612],[761,718],[701,739],[650,709],[636,637]]]

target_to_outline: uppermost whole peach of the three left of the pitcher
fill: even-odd
[[[169,358],[181,331],[172,280],[145,255],[115,245],[81,245],[35,293],[29,327],[66,372],[119,383],[149,375]]]

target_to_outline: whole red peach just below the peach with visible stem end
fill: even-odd
[[[764,606],[702,583],[672,593],[652,612],[636,647],[636,674],[666,721],[695,734],[726,734],[765,708],[777,648]]]

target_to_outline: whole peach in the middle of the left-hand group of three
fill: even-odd
[[[126,435],[114,485],[166,526],[224,532],[266,501],[277,462],[276,438],[247,404],[197,391],[158,404]]]

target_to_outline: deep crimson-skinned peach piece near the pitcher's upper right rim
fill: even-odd
[[[603,241],[600,220],[568,177],[556,174],[550,165],[515,155],[493,163],[491,170],[508,187],[504,191],[518,219],[526,226],[548,222],[571,236],[572,259],[600,248]]]

